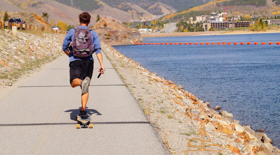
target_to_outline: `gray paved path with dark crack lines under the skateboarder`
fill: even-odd
[[[87,112],[93,129],[76,129],[81,89],[69,83],[62,56],[0,96],[0,154],[170,154],[103,53],[95,66]],[[2,91],[2,90],[1,90]]]

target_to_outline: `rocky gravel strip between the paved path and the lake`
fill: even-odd
[[[242,126],[226,111],[215,111],[182,86],[151,73],[111,46],[101,46],[138,100],[170,153],[279,155],[265,133]],[[218,109],[218,107],[216,107]]]

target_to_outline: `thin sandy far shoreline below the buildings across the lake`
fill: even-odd
[[[183,36],[209,36],[209,35],[233,35],[233,34],[261,34],[261,33],[280,33],[280,31],[269,32],[250,32],[250,31],[211,31],[211,32],[175,32],[175,33],[142,33],[142,38],[156,38],[156,37],[183,37]]]

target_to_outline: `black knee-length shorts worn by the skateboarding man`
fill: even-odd
[[[75,60],[70,62],[70,84],[75,78],[84,80],[86,77],[91,79],[93,73],[92,60]]]

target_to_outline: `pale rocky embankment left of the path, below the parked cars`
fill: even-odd
[[[0,30],[0,85],[11,86],[22,74],[62,55],[64,36],[18,32],[14,37],[7,29]]]

